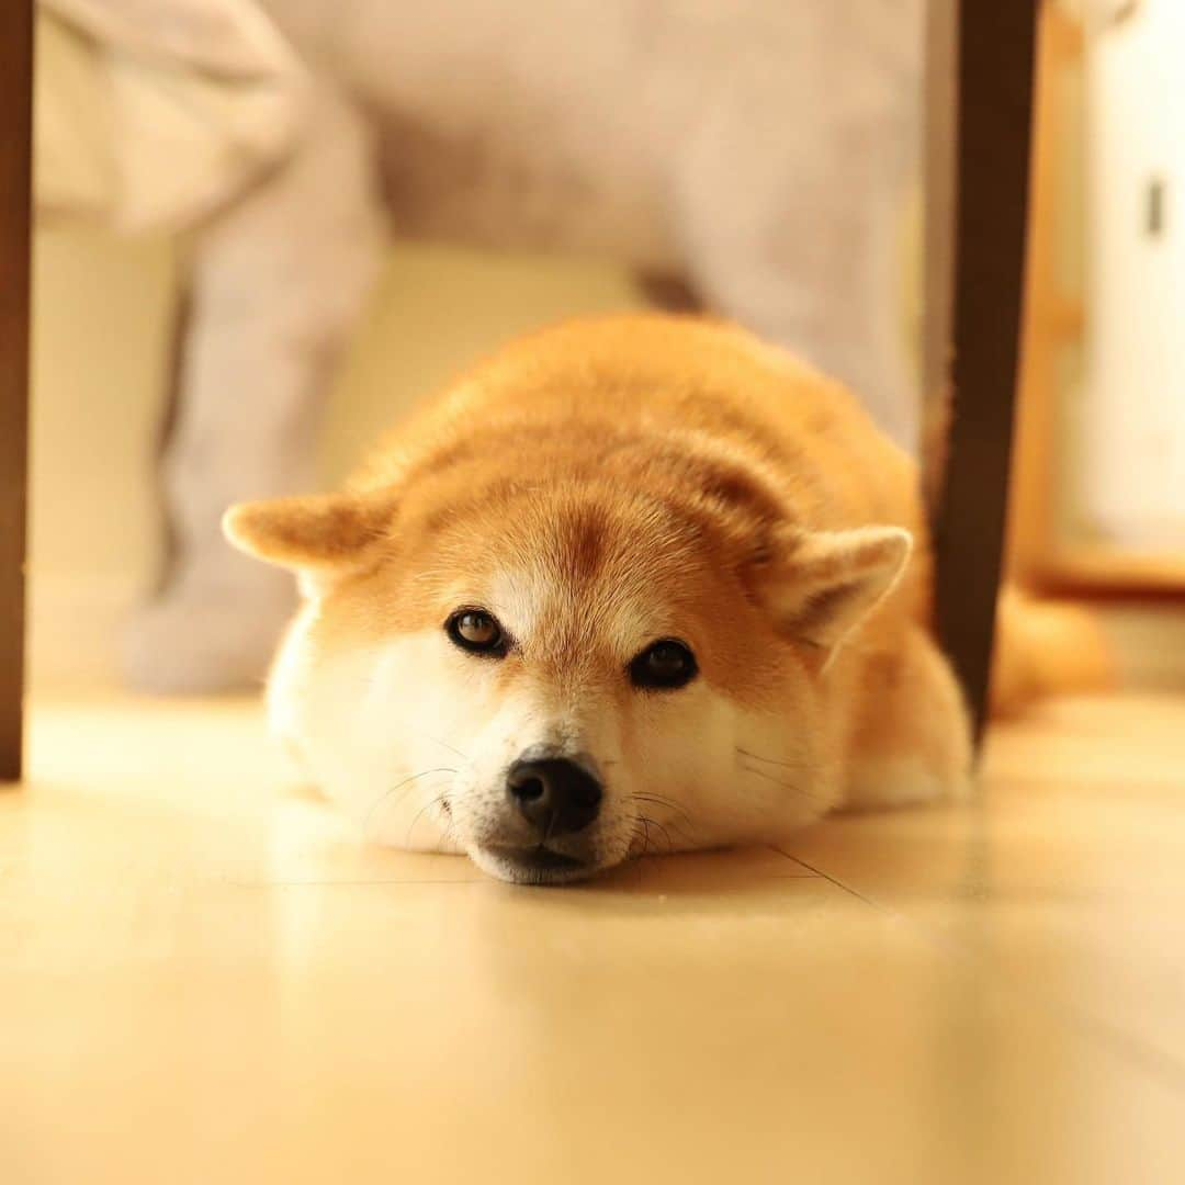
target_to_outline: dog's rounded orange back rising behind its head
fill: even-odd
[[[575,319],[518,338],[399,427],[353,483],[387,482],[475,442],[489,466],[513,457],[523,472],[639,461],[647,450],[679,453],[709,479],[713,466],[749,468],[803,527],[883,523],[924,542],[916,467],[859,402],[792,354],[711,319]]]

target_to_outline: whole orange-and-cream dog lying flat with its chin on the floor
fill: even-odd
[[[379,843],[563,882],[967,784],[914,463],[731,326],[525,337],[225,526],[303,595],[274,726]]]

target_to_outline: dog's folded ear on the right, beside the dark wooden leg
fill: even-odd
[[[833,648],[892,590],[912,545],[897,526],[800,536],[770,565],[764,598],[784,633]]]

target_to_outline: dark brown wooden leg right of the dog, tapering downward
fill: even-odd
[[[939,373],[928,382],[944,385],[953,399],[935,521],[935,610],[978,736],[987,712],[1012,451],[1037,0],[930,2],[947,11],[931,12],[928,89],[941,97],[953,79],[954,91],[949,146],[931,147],[929,190],[937,197],[927,236],[931,250],[949,242],[948,260],[934,261],[929,273],[927,357]],[[935,113],[940,126],[947,114]],[[946,193],[944,147],[953,177]]]

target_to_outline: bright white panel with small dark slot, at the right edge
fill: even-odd
[[[1142,0],[1087,56],[1078,501],[1100,534],[1185,546],[1185,2]],[[1162,230],[1148,230],[1149,187]]]

